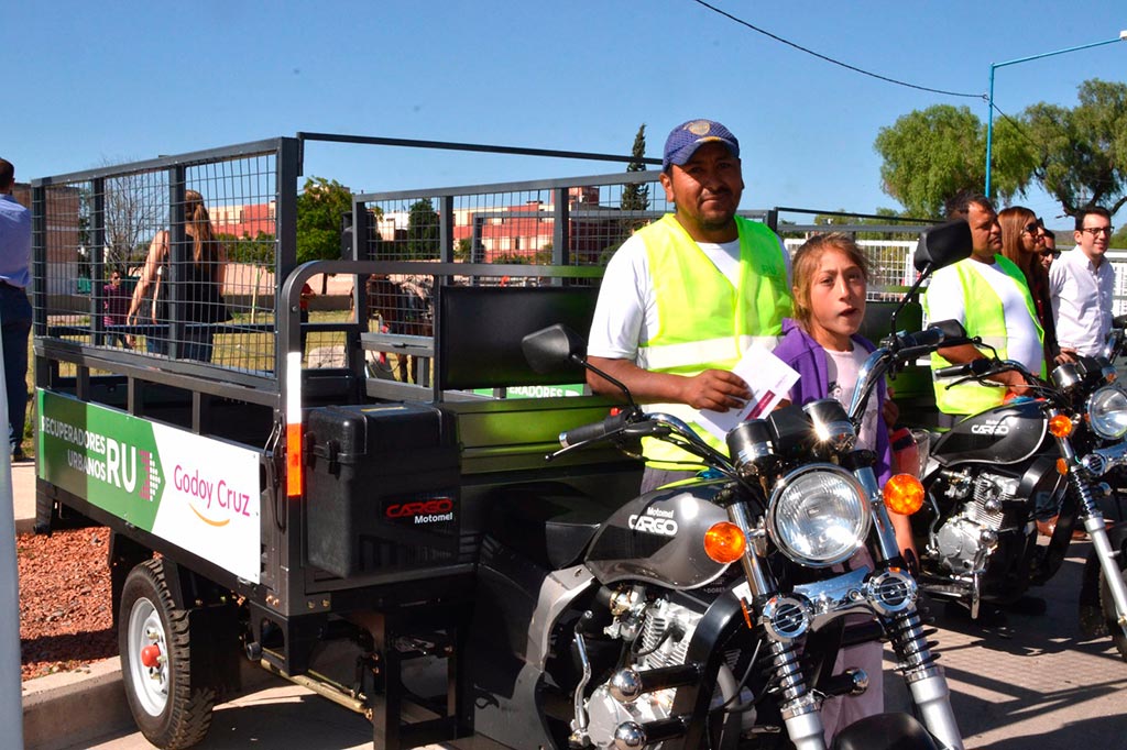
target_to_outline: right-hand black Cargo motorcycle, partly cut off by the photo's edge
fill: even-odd
[[[1116,322],[1121,329],[1127,319]],[[987,386],[1019,372],[1029,390],[932,436],[922,477],[928,502],[913,517],[924,591],[957,600],[975,618],[983,602],[1011,605],[1056,574],[1082,524],[1092,541],[1082,626],[1088,635],[1110,632],[1127,659],[1127,529],[1109,530],[1099,506],[1111,492],[1101,477],[1127,464],[1127,394],[1111,365],[1121,341],[1116,331],[1101,356],[1059,365],[1048,382],[996,357],[937,370],[948,384]],[[1038,544],[1036,521],[1048,517],[1055,528]]]

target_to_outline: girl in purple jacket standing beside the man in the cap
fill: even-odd
[[[868,264],[857,243],[845,234],[819,234],[798,249],[793,258],[795,319],[783,321],[783,339],[775,347],[777,357],[793,367],[798,382],[790,400],[804,404],[833,398],[848,409],[853,399],[861,365],[873,350],[872,343],[857,334],[864,318]],[[858,441],[877,453],[877,479],[884,485],[891,475],[888,427],[882,414],[886,387],[879,383],[876,398],[869,400]],[[888,414],[895,420],[895,408]],[[905,560],[915,550],[906,516],[889,511]],[[871,566],[863,547],[851,564]],[[857,697],[835,697],[825,702],[822,721],[827,744],[841,727],[884,711],[881,689],[881,646],[879,642],[842,649],[834,673],[846,667],[861,667],[870,676],[869,689]]]

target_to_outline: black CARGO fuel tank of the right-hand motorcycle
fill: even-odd
[[[1015,464],[1037,452],[1047,430],[1040,402],[995,407],[952,427],[932,446],[932,457],[944,466],[968,461]]]

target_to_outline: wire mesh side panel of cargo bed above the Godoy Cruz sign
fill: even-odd
[[[272,369],[275,162],[266,153],[46,186],[36,274],[46,334]]]

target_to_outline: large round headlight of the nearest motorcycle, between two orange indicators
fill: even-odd
[[[782,479],[767,506],[767,533],[795,562],[826,568],[848,560],[869,533],[869,506],[855,476],[810,464]]]

